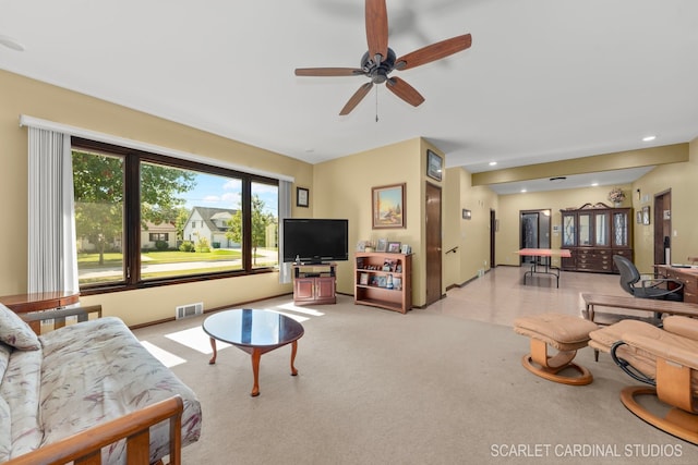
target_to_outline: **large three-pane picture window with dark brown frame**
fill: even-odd
[[[81,292],[278,267],[278,181],[73,137]]]

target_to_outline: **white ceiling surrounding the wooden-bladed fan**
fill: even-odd
[[[698,136],[698,1],[387,10],[398,57],[472,35],[466,51],[393,72],[425,97],[417,108],[380,86],[339,117],[366,77],[293,74],[360,68],[361,0],[0,0],[0,35],[25,49],[0,45],[0,68],[311,163],[423,136],[446,167],[481,172]]]

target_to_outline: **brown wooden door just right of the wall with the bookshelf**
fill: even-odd
[[[426,305],[442,297],[441,187],[426,183]]]

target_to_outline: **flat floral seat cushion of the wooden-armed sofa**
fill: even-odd
[[[180,394],[182,446],[198,439],[201,405],[191,389],[143,347],[118,318],[106,317],[43,334],[40,425],[44,444]],[[151,458],[168,453],[168,426],[151,431]],[[103,450],[120,463],[123,443]]]

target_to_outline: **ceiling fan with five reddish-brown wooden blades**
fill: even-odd
[[[385,0],[366,0],[365,3],[366,41],[369,51],[361,58],[361,68],[297,68],[297,76],[366,76],[371,81],[359,87],[359,90],[347,101],[339,112],[346,115],[369,94],[374,84],[385,83],[388,90],[408,102],[418,107],[424,101],[424,97],[414,87],[399,77],[389,76],[393,70],[404,71],[421,64],[440,60],[457,53],[470,47],[472,37],[470,34],[452,37],[442,40],[400,58],[396,58],[393,49],[388,47],[388,14]]]

